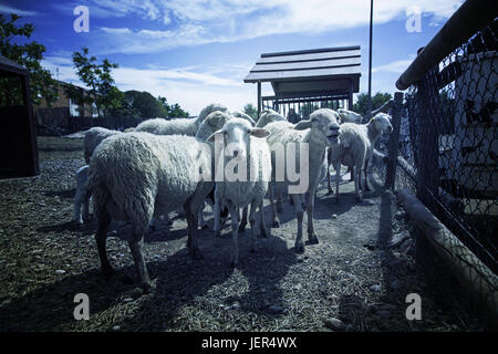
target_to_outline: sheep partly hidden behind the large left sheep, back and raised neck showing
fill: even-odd
[[[219,103],[211,103],[203,111],[200,111],[199,116],[195,119],[191,118],[176,118],[166,121],[164,118],[153,118],[142,122],[135,128],[135,132],[148,132],[156,135],[188,135],[195,136],[199,129],[203,121],[209,115],[209,113],[215,111],[226,112],[227,107]]]

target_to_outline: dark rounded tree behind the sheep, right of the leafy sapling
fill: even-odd
[[[124,93],[124,100],[131,108],[132,115],[136,114],[136,116],[145,118],[168,116],[168,111],[164,106],[163,102],[146,91],[126,91]],[[166,98],[164,100],[166,101]]]

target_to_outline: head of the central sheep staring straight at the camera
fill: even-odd
[[[225,123],[224,127],[211,134],[207,140],[221,139],[226,149],[226,156],[246,157],[250,137],[267,137],[270,133],[267,129],[253,127],[242,118],[231,118]]]

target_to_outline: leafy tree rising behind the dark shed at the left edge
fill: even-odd
[[[18,25],[15,22],[20,18],[18,14],[11,13],[10,21],[7,21],[0,14],[0,54],[28,69],[32,102],[40,104],[44,98],[50,106],[55,102],[58,92],[50,71],[44,70],[40,64],[46,49],[37,41],[28,41],[34,31],[34,24]],[[14,77],[0,79],[0,105],[19,104],[20,102],[22,102],[20,82],[15,82]]]

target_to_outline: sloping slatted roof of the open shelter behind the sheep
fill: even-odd
[[[263,53],[243,82],[271,82],[279,93],[360,90],[360,45]]]

